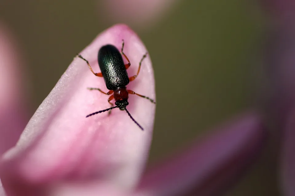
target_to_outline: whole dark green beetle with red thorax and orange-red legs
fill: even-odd
[[[92,70],[92,67],[90,66],[89,62],[85,58],[83,58],[80,54],[77,54],[77,57],[86,61],[90,71],[94,75],[104,78],[105,85],[109,91],[104,92],[99,88],[88,88],[88,89],[98,90],[101,93],[104,93],[105,95],[111,95],[108,98],[108,103],[111,104],[112,107],[89,114],[86,116],[86,118],[92,115],[105,112],[105,111],[108,111],[109,112],[108,114],[110,115],[111,110],[118,107],[120,110],[125,110],[127,114],[129,115],[129,117],[133,120],[133,122],[136,123],[136,125],[139,126],[141,130],[144,130],[144,128],[140,126],[140,124],[137,123],[135,119],[133,119],[133,117],[131,116],[131,114],[126,108],[126,106],[129,104],[128,103],[129,94],[138,95],[140,97],[146,98],[154,104],[156,102],[147,96],[140,95],[132,90],[127,89],[126,85],[128,85],[130,81],[133,81],[136,79],[136,77],[138,76],[140,72],[141,63],[144,60],[144,58],[146,58],[148,53],[144,54],[143,57],[141,58],[136,75],[132,77],[128,77],[127,69],[131,66],[131,63],[128,57],[123,52],[124,40],[122,41],[123,43],[122,43],[121,53],[115,46],[110,44],[101,47],[100,50],[98,51],[98,65],[100,67],[101,73],[95,73]],[[128,61],[127,64],[124,64],[123,57],[121,54]],[[116,106],[113,106],[114,104],[111,103],[113,99],[115,99]]]

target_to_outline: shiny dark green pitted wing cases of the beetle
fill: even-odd
[[[107,89],[126,86],[129,83],[128,74],[122,55],[113,45],[105,45],[98,52],[98,64],[104,77]]]

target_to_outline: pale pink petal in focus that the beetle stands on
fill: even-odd
[[[98,50],[106,44],[120,49],[122,39],[124,53],[131,61],[128,73],[132,76],[147,49],[126,25],[115,25],[102,32],[81,55],[95,72],[100,72]],[[141,67],[139,76],[127,88],[155,98],[149,56]],[[127,108],[144,131],[119,109],[114,109],[109,117],[105,112],[85,118],[110,107],[109,96],[87,87],[107,91],[104,79],[94,76],[85,61],[74,58],[29,121],[17,146],[5,154],[1,177],[6,190],[14,193],[13,187],[18,185],[29,191],[35,185],[48,187],[47,184],[65,179],[108,181],[125,189],[137,183],[148,156],[155,105],[129,96]]]

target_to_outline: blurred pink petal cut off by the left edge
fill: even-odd
[[[0,22],[0,155],[14,146],[27,123],[22,61],[11,32]]]

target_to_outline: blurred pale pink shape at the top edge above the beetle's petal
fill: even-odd
[[[113,23],[126,23],[147,29],[167,14],[178,0],[104,0],[99,1],[100,17]]]

